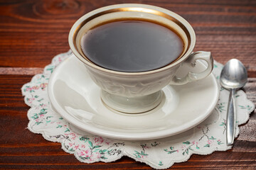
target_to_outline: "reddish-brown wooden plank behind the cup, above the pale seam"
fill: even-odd
[[[43,67],[69,49],[70,27],[102,6],[138,1],[10,1],[0,6],[0,67]],[[225,63],[241,60],[250,76],[256,68],[255,1],[139,1],[168,8],[191,23],[195,50],[211,51]]]

